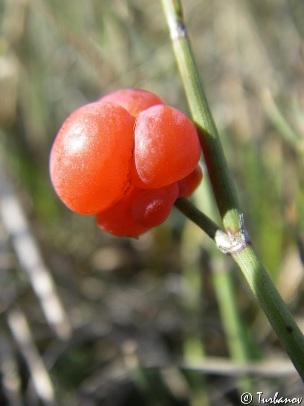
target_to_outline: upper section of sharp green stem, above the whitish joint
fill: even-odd
[[[217,206],[226,230],[240,227],[237,193],[212,118],[202,82],[194,61],[177,0],[162,0],[170,28],[173,50],[183,81],[189,108],[196,124]]]

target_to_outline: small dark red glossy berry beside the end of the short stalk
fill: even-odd
[[[133,202],[132,216],[144,227],[156,227],[169,216],[178,195],[177,182],[142,192]]]

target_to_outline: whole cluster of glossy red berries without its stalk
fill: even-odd
[[[154,93],[123,89],[73,112],[54,141],[53,186],[65,205],[112,234],[163,223],[202,179],[193,123]]]

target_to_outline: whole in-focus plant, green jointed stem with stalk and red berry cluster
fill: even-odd
[[[163,0],[163,6],[193,122],[151,92],[107,94],[61,127],[50,158],[54,188],[71,210],[95,215],[101,229],[118,236],[138,237],[175,205],[237,262],[303,380],[304,337],[250,241],[181,5]],[[222,228],[187,199],[202,179],[201,150]]]

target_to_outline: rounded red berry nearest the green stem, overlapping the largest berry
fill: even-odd
[[[185,114],[169,106],[150,107],[135,122],[130,183],[147,189],[169,185],[189,175],[200,154],[196,128]]]

